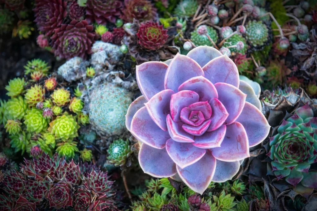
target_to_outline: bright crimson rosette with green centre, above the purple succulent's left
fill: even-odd
[[[152,21],[141,23],[137,36],[139,45],[150,51],[163,47],[168,38],[167,30]]]

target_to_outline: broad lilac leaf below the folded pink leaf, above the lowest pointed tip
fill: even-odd
[[[206,153],[206,150],[197,148],[191,143],[180,143],[172,139],[167,140],[166,151],[176,165],[182,169],[196,163]]]

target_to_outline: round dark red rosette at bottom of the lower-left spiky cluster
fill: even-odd
[[[49,191],[46,192],[45,198],[49,201],[50,207],[65,208],[73,204],[72,193],[72,185],[61,180],[49,185]]]

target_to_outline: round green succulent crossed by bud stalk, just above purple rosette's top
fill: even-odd
[[[207,26],[207,34],[211,38],[212,41],[214,41],[215,44],[218,42],[218,34],[215,29],[213,29],[210,26]],[[197,30],[194,30],[191,32],[191,41],[196,45],[196,46],[211,46],[213,47],[214,45],[212,42],[208,39],[206,35],[200,35],[198,34]]]

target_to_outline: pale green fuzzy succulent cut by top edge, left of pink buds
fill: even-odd
[[[174,13],[178,17],[188,18],[194,16],[197,9],[198,3],[196,0],[184,0],[178,3]]]

